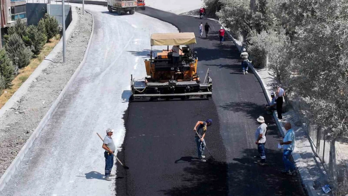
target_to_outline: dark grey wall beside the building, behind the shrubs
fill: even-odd
[[[46,3],[27,3],[26,17],[28,25],[37,25],[42,17],[47,13]]]

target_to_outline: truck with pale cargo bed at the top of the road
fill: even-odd
[[[118,15],[122,13],[134,14],[137,7],[137,0],[108,0],[108,10],[112,12],[117,11]]]

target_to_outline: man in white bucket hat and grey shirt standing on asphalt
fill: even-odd
[[[255,144],[258,145],[258,152],[260,155],[261,160],[258,161],[260,165],[267,165],[266,162],[266,154],[264,152],[264,144],[266,143],[266,132],[267,132],[267,125],[264,123],[263,116],[260,116],[258,119],[256,119],[260,126],[256,129],[255,132]]]

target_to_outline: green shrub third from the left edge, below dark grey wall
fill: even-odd
[[[32,46],[32,52],[34,55],[40,54],[42,47],[44,47],[47,37],[44,33],[38,30],[34,25],[30,25],[27,28],[27,36],[24,37],[24,41]]]

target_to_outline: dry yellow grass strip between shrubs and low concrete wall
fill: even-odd
[[[11,96],[18,90],[19,87],[29,78],[32,72],[40,65],[40,63],[45,59],[52,49],[57,45],[60,40],[60,35],[55,36],[49,40],[42,48],[41,53],[36,57],[30,60],[28,66],[19,70],[19,74],[11,82],[11,87],[4,89],[3,94],[0,96],[0,109],[5,105],[5,103],[11,98]],[[57,39],[58,38],[58,39]],[[5,93],[5,91],[7,93]]]

